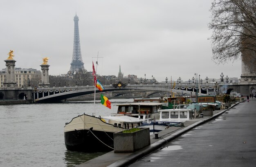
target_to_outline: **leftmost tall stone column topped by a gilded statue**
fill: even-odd
[[[15,60],[13,59],[13,51],[10,51],[9,57],[4,60],[6,63],[6,79],[4,80],[4,87],[15,88],[16,81],[15,81]]]

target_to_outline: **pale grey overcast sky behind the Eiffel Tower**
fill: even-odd
[[[241,62],[217,65],[211,59],[211,0],[1,0],[0,68],[9,50],[16,67],[40,70],[49,57],[49,75],[66,74],[73,52],[74,16],[79,17],[84,67],[92,71],[99,51],[99,75],[129,74],[157,81],[186,81],[241,75]]]

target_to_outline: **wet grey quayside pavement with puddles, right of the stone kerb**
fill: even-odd
[[[256,165],[256,100],[250,99],[175,138],[130,167]]]

